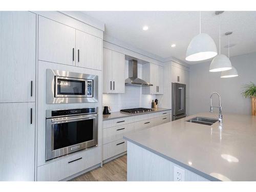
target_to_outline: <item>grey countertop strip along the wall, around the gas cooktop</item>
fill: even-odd
[[[103,121],[110,120],[110,119],[118,119],[123,117],[131,117],[131,116],[137,116],[137,115],[144,115],[148,113],[156,113],[156,112],[162,112],[162,111],[169,111],[171,109],[165,109],[165,108],[154,108],[151,112],[145,112],[145,113],[124,113],[124,112],[111,112],[109,115],[103,115]]]

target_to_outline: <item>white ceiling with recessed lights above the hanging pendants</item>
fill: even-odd
[[[170,56],[185,61],[190,40],[199,33],[198,11],[84,11],[105,24],[105,33],[135,48],[162,58]],[[225,11],[221,15],[221,52],[230,56],[256,52],[256,11]],[[147,31],[142,27],[148,26]],[[215,11],[201,12],[201,31],[209,34],[219,50],[219,16]],[[170,45],[176,44],[175,48]],[[185,61],[187,62],[187,61]],[[187,62],[193,64],[194,62]]]

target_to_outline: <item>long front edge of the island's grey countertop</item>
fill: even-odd
[[[195,169],[195,168],[193,168],[191,166],[188,166],[188,165],[186,165],[186,164],[184,164],[184,163],[182,163],[180,161],[177,161],[177,160],[175,160],[173,158],[170,158],[170,157],[168,157],[168,156],[166,156],[164,154],[161,154],[160,152],[157,152],[157,151],[153,150],[152,148],[147,147],[147,146],[145,146],[143,144],[140,144],[140,143],[138,143],[138,142],[136,142],[136,141],[134,141],[132,139],[129,139],[129,138],[125,137],[125,136],[123,136],[123,139],[125,139],[127,141],[130,141],[130,142],[132,142],[132,143],[134,143],[134,144],[144,148],[145,150],[150,151],[150,152],[152,152],[152,153],[154,153],[154,154],[156,154],[156,155],[158,155],[158,156],[160,156],[160,157],[162,157],[164,159],[172,161],[173,163],[175,163],[177,165],[180,165],[180,166],[184,167],[185,169],[190,170],[191,172],[193,172],[193,173],[195,173],[195,174],[197,174],[197,175],[199,175],[199,176],[201,176],[201,177],[203,177],[205,179],[208,179],[210,181],[221,181],[221,180],[219,180],[219,179],[217,179],[215,177],[212,177],[212,176],[210,176],[210,175],[208,175],[206,173],[200,172],[200,170],[197,170],[197,169]]]

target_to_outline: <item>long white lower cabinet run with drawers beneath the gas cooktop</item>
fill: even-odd
[[[170,122],[170,110],[103,121],[103,161],[126,152],[128,133]]]

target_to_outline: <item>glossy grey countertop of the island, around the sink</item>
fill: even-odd
[[[124,139],[209,180],[256,181],[256,116],[223,114],[212,125],[190,123],[200,113],[125,135]]]

